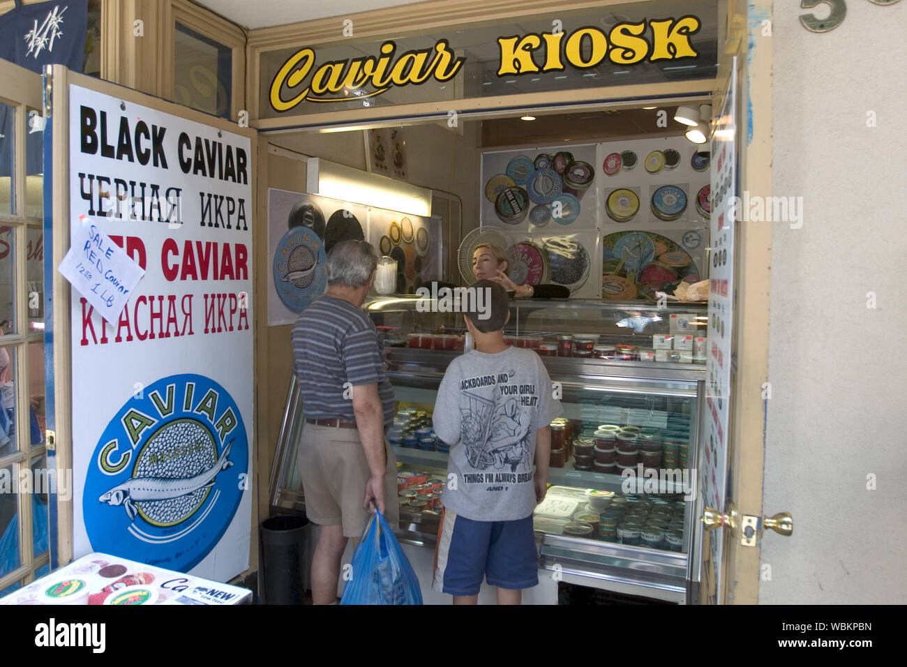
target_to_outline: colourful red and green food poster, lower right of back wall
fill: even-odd
[[[627,230],[601,240],[602,299],[655,299],[673,294],[680,281],[705,280],[705,243],[700,230]]]

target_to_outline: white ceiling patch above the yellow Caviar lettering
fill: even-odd
[[[272,25],[295,24],[330,16],[345,16],[384,9],[397,5],[412,5],[421,0],[195,0],[224,18],[243,27],[267,28]]]

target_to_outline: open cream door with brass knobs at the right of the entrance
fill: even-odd
[[[771,225],[748,223],[750,201],[771,201],[770,0],[728,3],[728,40],[713,115],[712,252],[703,457],[702,603],[756,604],[767,529],[791,535],[793,519],[764,516]]]

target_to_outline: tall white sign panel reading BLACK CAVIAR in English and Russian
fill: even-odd
[[[69,99],[72,238],[84,216],[145,270],[116,321],[73,289],[74,555],[226,581],[249,565],[251,142]]]

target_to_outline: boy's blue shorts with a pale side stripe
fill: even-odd
[[[432,588],[451,595],[476,595],[483,577],[514,591],[539,584],[532,515],[516,521],[473,521],[444,512]]]

